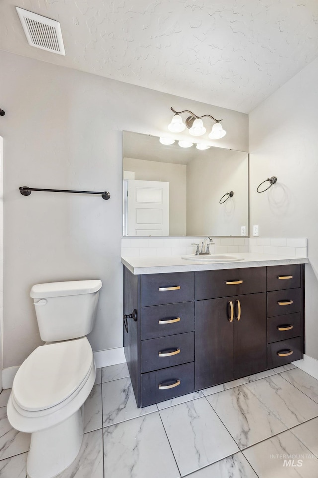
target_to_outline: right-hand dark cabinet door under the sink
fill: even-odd
[[[267,368],[266,293],[234,298],[234,378]]]

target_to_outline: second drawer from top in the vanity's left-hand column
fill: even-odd
[[[153,339],[194,330],[194,301],[141,309],[141,338]]]

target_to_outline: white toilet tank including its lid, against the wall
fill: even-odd
[[[101,280],[36,284],[30,296],[41,339],[55,342],[83,337],[92,331]]]

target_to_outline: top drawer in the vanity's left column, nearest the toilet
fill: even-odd
[[[194,272],[141,276],[141,306],[194,300]]]

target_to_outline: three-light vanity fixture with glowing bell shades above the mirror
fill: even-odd
[[[189,133],[192,136],[202,136],[206,132],[206,128],[203,125],[203,121],[201,118],[209,117],[215,121],[215,124],[212,127],[212,131],[209,134],[209,138],[211,139],[220,139],[226,134],[225,130],[222,129],[220,121],[222,119],[215,119],[211,115],[202,115],[198,116],[195,113],[192,113],[190,110],[183,110],[183,111],[176,111],[171,107],[173,113],[175,113],[174,117],[171,120],[171,123],[168,125],[168,130],[172,131],[173,133],[180,133],[184,131],[185,126],[188,128]],[[182,113],[190,113],[191,116],[185,120],[185,125],[182,122],[181,114]]]

